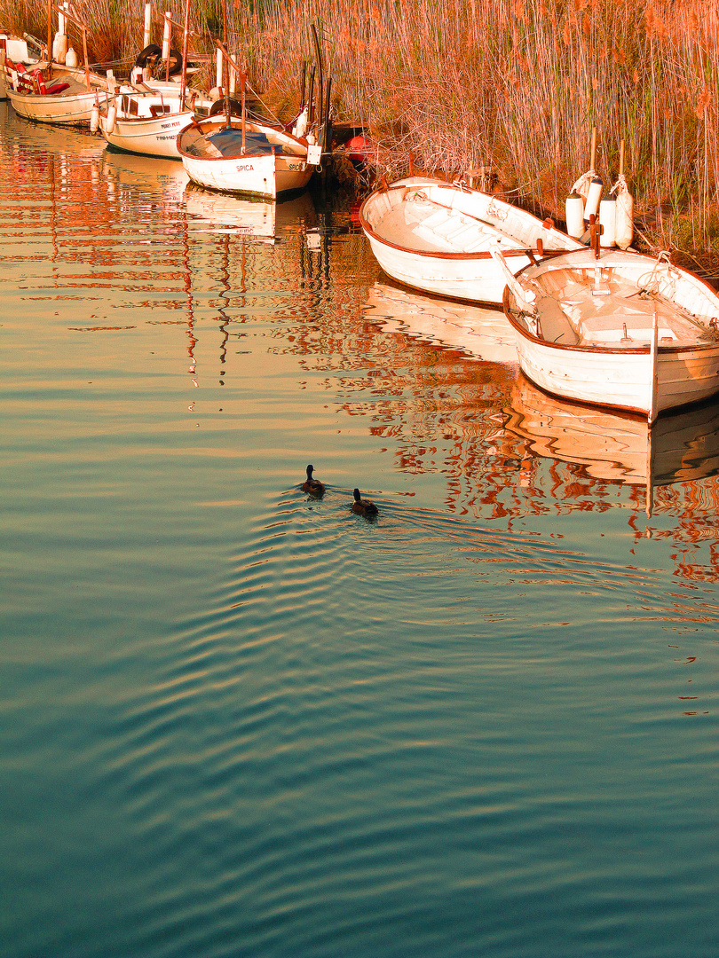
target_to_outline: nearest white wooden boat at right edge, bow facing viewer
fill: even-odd
[[[668,257],[584,249],[505,275],[522,372],[547,392],[655,422],[719,391],[719,296]]]

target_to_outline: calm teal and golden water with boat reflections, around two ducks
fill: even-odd
[[[715,958],[719,405],[547,399],[321,194],[0,151],[3,958]]]

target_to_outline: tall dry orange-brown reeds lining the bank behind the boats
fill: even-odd
[[[136,51],[134,5],[132,18],[85,0],[97,59]],[[177,0],[163,9],[181,19]],[[15,29],[43,11],[0,0]],[[561,218],[596,125],[605,182],[625,140],[648,244],[719,262],[717,0],[234,0],[228,17],[230,47],[288,114],[318,25],[336,118],[371,131],[380,172],[406,171],[410,154],[450,176],[491,164],[500,190]],[[208,22],[217,34],[217,0],[193,9],[196,50],[211,49]]]

